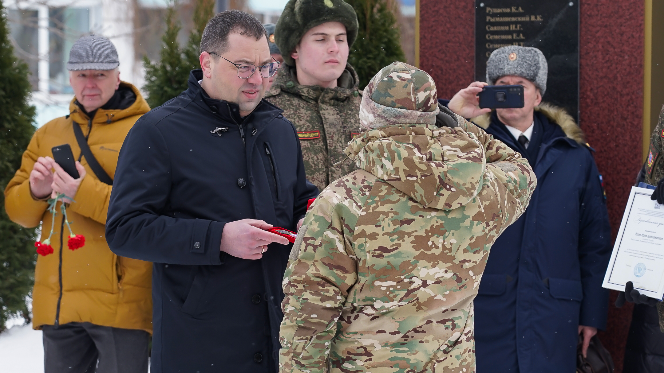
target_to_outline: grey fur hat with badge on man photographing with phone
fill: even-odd
[[[532,46],[510,45],[498,48],[487,61],[487,83],[493,85],[503,76],[521,76],[533,82],[544,96],[548,64],[541,50]]]

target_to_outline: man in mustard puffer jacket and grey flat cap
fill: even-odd
[[[107,38],[92,35],[76,41],[67,64],[76,94],[70,115],[35,132],[21,169],[5,189],[5,209],[13,222],[25,227],[42,222],[42,242],[54,228],[54,252],[37,259],[33,289],[33,327],[43,331],[47,373],[147,372],[151,263],[116,256],[108,248],[105,224],[112,185],[96,176],[74,135],[74,126],[80,127],[92,155],[112,178],[125,135],[150,110],[137,88],[120,81],[118,65],[118,53]],[[63,144],[80,161],[79,179],[51,158],[51,148]],[[69,231],[59,201],[51,223],[46,200],[55,193],[73,199],[65,200],[68,221],[85,237],[82,248],[67,247]]]

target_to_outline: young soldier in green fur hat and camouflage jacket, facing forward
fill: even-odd
[[[340,75],[333,76],[336,84],[300,84],[297,74],[298,71],[304,74],[300,66],[302,59],[310,60],[312,56],[300,52],[295,59],[293,52],[311,29],[337,22],[345,27],[347,43],[339,47],[343,49],[340,52],[328,50],[326,54],[338,60],[341,66],[338,69]],[[359,78],[353,66],[347,63],[348,49],[356,36],[357,16],[353,7],[343,0],[290,0],[274,31],[274,40],[285,63],[277,72],[265,99],[282,108],[284,116],[295,125],[307,179],[320,190],[356,169],[352,163],[334,165],[343,159],[341,152],[359,132]],[[321,66],[321,70],[324,68]]]

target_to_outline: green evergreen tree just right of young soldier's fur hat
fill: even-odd
[[[380,70],[394,61],[405,61],[396,17],[390,0],[345,0],[357,13],[359,28],[348,62],[360,77],[360,89]]]

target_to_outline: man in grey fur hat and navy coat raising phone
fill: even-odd
[[[524,87],[519,109],[478,109],[484,82],[448,107],[519,151],[537,175],[525,214],[491,247],[475,298],[477,372],[574,372],[578,335],[606,327],[602,289],[611,255],[602,178],[581,129],[560,108],[541,104],[546,59],[507,46],[487,62],[487,82]]]

